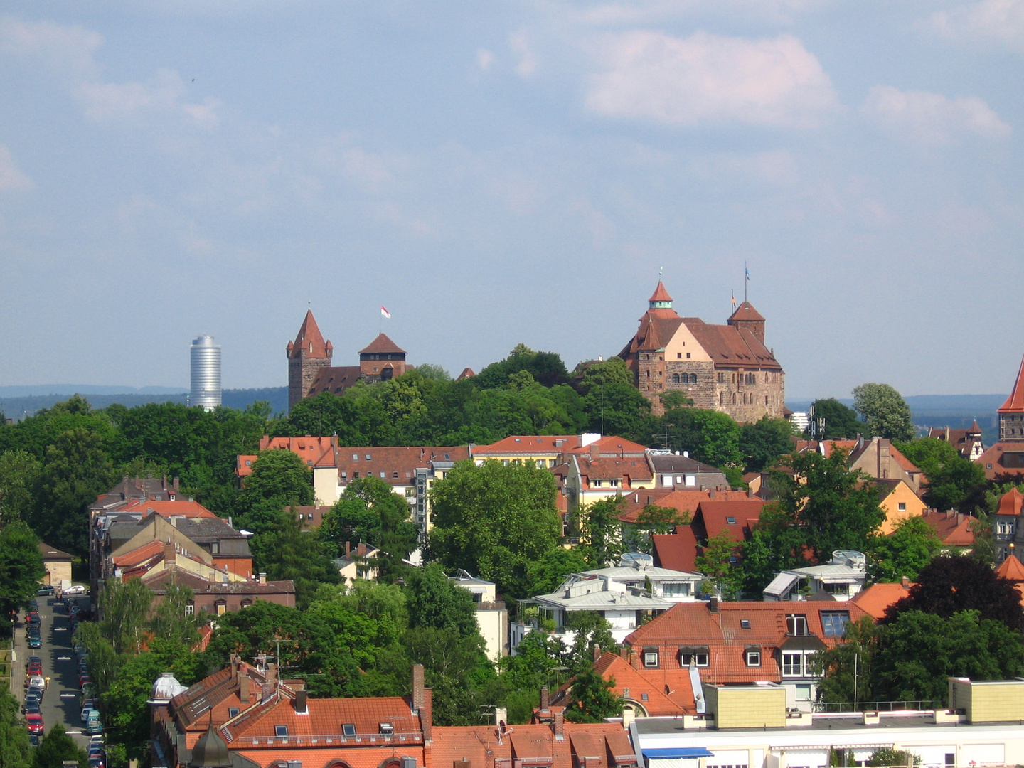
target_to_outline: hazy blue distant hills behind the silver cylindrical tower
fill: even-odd
[[[91,387],[97,389],[98,387]],[[44,408],[52,408],[54,403],[67,400],[71,395],[78,392],[94,409],[102,409],[115,402],[126,408],[144,406],[147,402],[185,402],[188,398],[187,392],[175,391],[170,387],[145,387],[150,390],[167,390],[158,392],[116,392],[99,393],[85,392],[72,388],[68,392],[50,392],[48,394],[32,394],[23,396],[2,396],[4,390],[17,389],[17,387],[0,387],[0,413],[8,419],[24,419],[32,416],[37,411]],[[30,387],[25,387],[30,389]],[[90,389],[85,387],[83,389]],[[288,410],[288,387],[262,387],[258,389],[225,389],[221,393],[221,401],[227,408],[243,410],[256,402],[266,400],[270,403],[271,413],[278,414]]]

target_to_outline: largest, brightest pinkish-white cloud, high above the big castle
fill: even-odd
[[[818,59],[791,35],[628,32],[606,38],[600,56],[607,69],[592,78],[587,106],[608,117],[811,127],[839,106]]]

